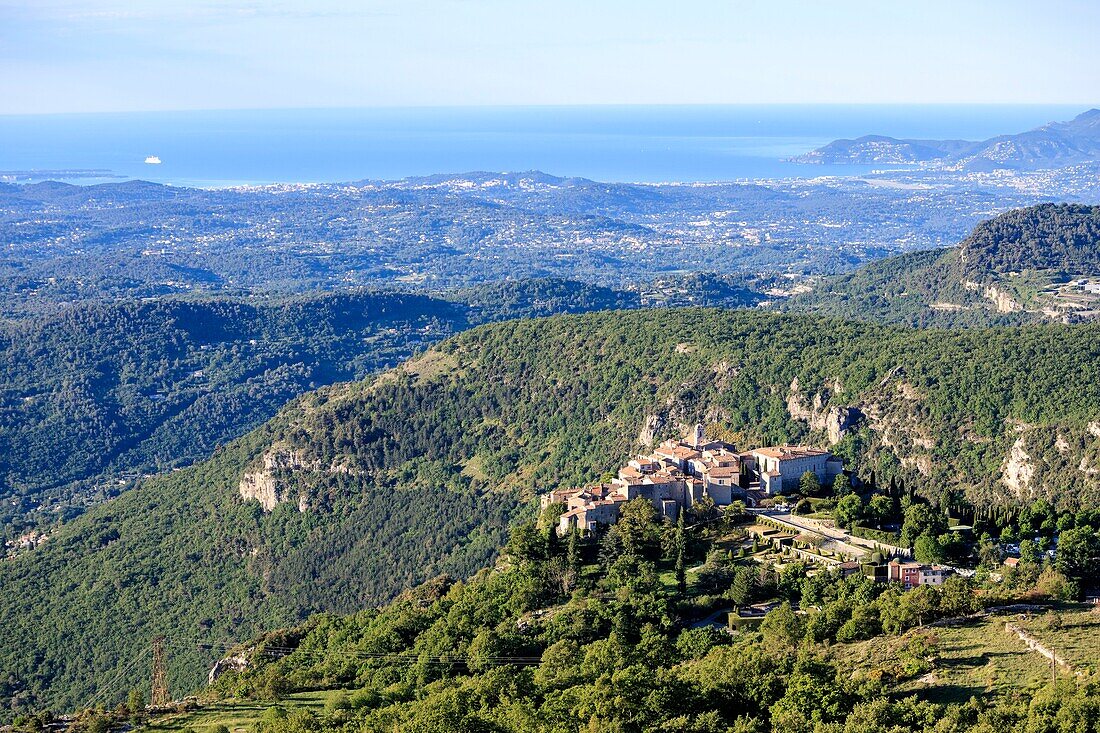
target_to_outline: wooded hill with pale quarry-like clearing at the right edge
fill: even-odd
[[[1100,206],[1043,204],[979,223],[957,247],[823,281],[787,307],[920,326],[1100,318]]]

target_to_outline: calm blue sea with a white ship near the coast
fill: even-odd
[[[798,177],[866,172],[783,162],[837,138],[980,140],[1081,111],[783,105],[0,116],[0,171],[103,168],[194,186],[530,169],[620,182]],[[144,162],[153,155],[161,164]]]

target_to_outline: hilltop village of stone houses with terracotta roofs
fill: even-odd
[[[649,456],[631,459],[609,483],[551,491],[542,496],[542,506],[565,505],[560,533],[574,527],[591,532],[615,524],[622,505],[639,496],[674,521],[705,497],[726,506],[747,497],[750,490],[767,496],[793,491],[807,471],[822,483],[832,483],[843,470],[827,450],[771,446],[738,452],[733,444],[707,439],[703,426],[696,425],[684,439],[666,440]]]

